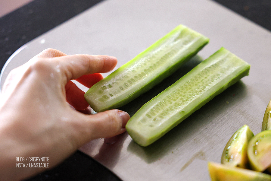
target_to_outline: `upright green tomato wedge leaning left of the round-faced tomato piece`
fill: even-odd
[[[221,157],[221,163],[233,167],[248,168],[247,147],[254,136],[248,125],[238,129],[226,144]]]

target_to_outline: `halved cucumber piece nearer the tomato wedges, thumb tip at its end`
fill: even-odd
[[[153,143],[230,85],[248,75],[250,65],[225,48],[145,103],[127,122],[142,146]]]

